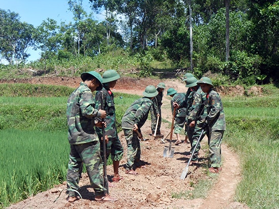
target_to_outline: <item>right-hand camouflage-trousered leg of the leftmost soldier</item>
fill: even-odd
[[[103,166],[99,141],[81,144],[79,149],[95,196],[106,194],[107,189],[103,187]]]

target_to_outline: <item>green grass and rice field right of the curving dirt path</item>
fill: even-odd
[[[279,208],[278,98],[249,100],[243,98],[242,107],[239,100],[225,106],[224,141],[239,155],[243,176],[235,199],[250,208]]]

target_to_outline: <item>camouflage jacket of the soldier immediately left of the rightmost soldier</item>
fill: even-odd
[[[199,87],[193,94],[192,99],[193,102],[187,113],[188,124],[190,124],[193,120],[195,120],[197,124],[200,124],[205,120],[207,115],[206,111],[204,111],[206,94]]]

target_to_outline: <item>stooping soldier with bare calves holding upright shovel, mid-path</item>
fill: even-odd
[[[174,106],[175,104],[178,104],[179,106],[182,105],[182,103],[185,101],[185,93],[177,93],[177,91],[173,88],[170,88],[167,90],[167,95],[169,95],[171,98],[170,105],[171,105],[171,112],[173,114]],[[180,139],[180,132],[184,127],[185,124],[185,118],[186,118],[186,108],[181,107],[179,109],[176,109],[175,113],[175,128],[174,132],[177,136],[177,141],[175,142],[175,145],[179,145],[182,143]]]

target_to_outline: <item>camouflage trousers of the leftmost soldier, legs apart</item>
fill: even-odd
[[[79,190],[79,181],[82,174],[83,164],[85,165],[90,185],[95,195],[107,193],[103,187],[103,167],[100,155],[99,141],[79,145],[70,145],[67,188]],[[75,191],[68,191],[70,197],[76,196]]]

